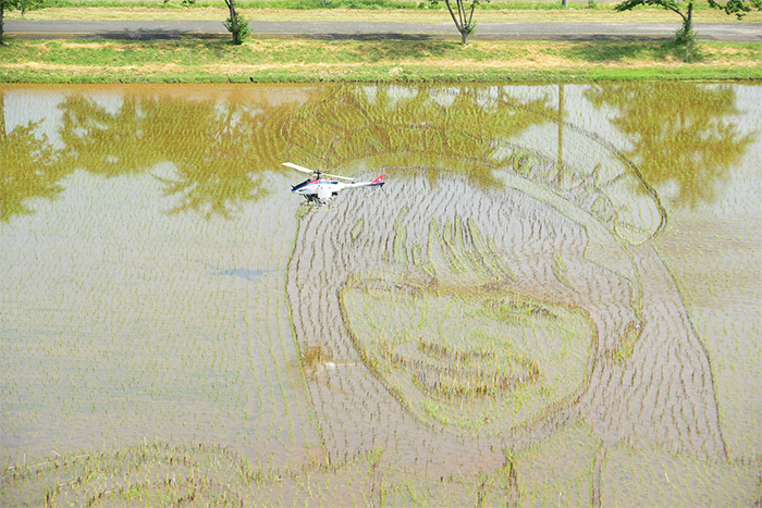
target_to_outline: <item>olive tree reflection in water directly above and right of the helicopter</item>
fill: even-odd
[[[517,108],[502,87],[344,86],[305,104],[280,134],[284,157],[305,165],[334,169],[384,153],[404,164],[406,156],[427,153],[458,159],[459,172],[494,185],[494,137],[517,135],[552,112],[542,99]]]

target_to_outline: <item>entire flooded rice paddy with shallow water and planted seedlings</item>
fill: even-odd
[[[753,506],[762,86],[0,87],[3,506]],[[309,211],[292,161],[383,190]]]

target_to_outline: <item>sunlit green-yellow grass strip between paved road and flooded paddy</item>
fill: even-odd
[[[14,40],[2,83],[587,82],[759,79],[762,48],[702,42],[378,40]],[[529,57],[528,57],[529,55]],[[402,72],[390,71],[401,67]]]

